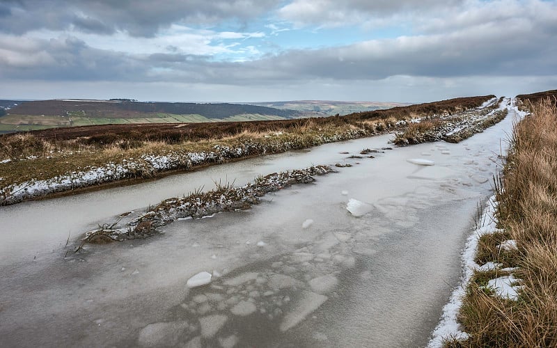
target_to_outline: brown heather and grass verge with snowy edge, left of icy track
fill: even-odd
[[[255,155],[404,132],[409,125],[433,118],[450,131],[457,124],[455,118],[468,120],[469,113],[491,117],[484,115],[485,108],[476,110],[474,106],[492,97],[459,98],[343,117],[72,127],[3,135],[0,205],[117,180],[154,177],[165,171],[187,171]],[[466,111],[469,109],[476,111]]]

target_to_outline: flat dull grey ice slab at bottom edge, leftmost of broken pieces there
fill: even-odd
[[[137,343],[141,347],[173,347],[178,345],[180,335],[187,327],[187,322],[149,324],[139,332]]]

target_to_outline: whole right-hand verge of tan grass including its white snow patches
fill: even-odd
[[[515,126],[491,222],[469,239],[430,347],[557,347],[556,122],[547,103]]]

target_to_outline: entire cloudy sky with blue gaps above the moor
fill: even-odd
[[[557,88],[557,1],[0,0],[0,99],[427,102]]]

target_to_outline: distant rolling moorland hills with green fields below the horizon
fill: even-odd
[[[401,103],[296,101],[171,103],[135,100],[0,100],[0,134],[56,127],[128,123],[239,122],[326,117],[375,111]]]

